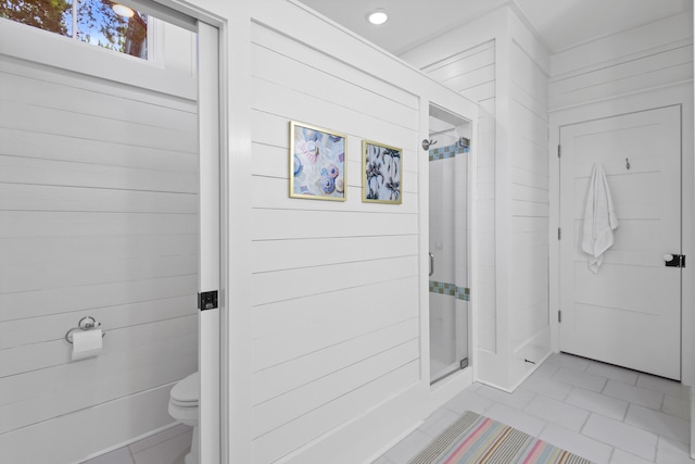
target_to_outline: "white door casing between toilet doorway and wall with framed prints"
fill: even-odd
[[[130,0],[124,0],[124,2]],[[159,2],[218,29],[219,78],[219,461],[250,463],[251,340],[251,2]],[[231,265],[236,263],[236,265]],[[232,381],[233,379],[233,381]],[[213,461],[211,464],[214,464]]]

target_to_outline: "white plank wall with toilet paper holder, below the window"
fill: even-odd
[[[0,59],[0,449],[76,462],[197,369],[197,104]],[[102,323],[98,358],[65,333]]]

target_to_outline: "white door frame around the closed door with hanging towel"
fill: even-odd
[[[693,156],[693,83],[680,83],[673,86],[643,91],[607,100],[591,102],[572,108],[559,109],[549,112],[549,321],[551,340],[554,352],[559,351],[559,324],[557,311],[559,310],[559,241],[557,228],[559,227],[559,159],[557,146],[559,143],[560,127],[579,124],[591,120],[611,117],[626,113],[647,111],[655,108],[680,104],[681,117],[681,155],[682,155],[682,253],[695,253],[695,161]],[[683,283],[695,279],[693,266],[681,269]],[[695,385],[695,334],[685,330],[685,327],[695,326],[695,290],[693,286],[682,285],[682,316],[681,316],[681,381],[685,385]]]

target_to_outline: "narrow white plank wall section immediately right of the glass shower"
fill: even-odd
[[[422,71],[479,103],[478,134],[478,346],[496,351],[495,299],[495,41],[456,52]]]

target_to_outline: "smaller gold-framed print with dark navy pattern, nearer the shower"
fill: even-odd
[[[362,201],[401,204],[403,150],[370,140],[362,142]]]

